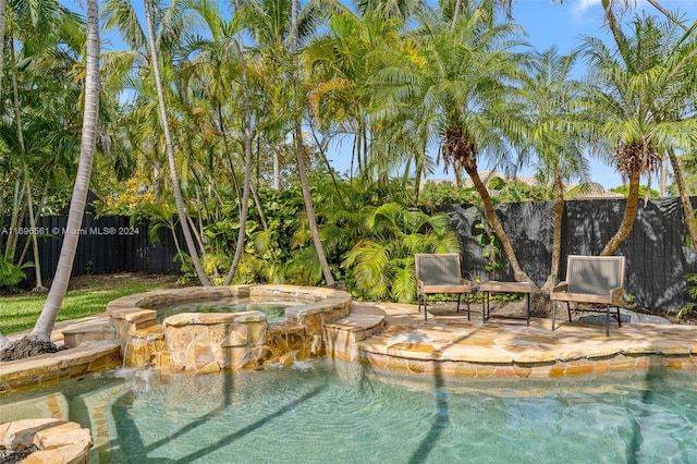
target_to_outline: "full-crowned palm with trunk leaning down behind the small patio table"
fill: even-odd
[[[485,156],[494,164],[504,164],[511,143],[524,133],[510,105],[511,84],[519,66],[509,50],[522,45],[518,27],[512,23],[489,26],[488,14],[480,9],[463,13],[455,24],[442,22],[432,12],[420,19],[413,38],[420,51],[417,59],[408,66],[387,68],[378,74],[383,91],[391,95],[387,103],[394,112],[417,109],[412,115],[415,137],[424,144],[438,141],[447,169],[465,169],[515,280],[533,282],[517,261],[478,170]]]

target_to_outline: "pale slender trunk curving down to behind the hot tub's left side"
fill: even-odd
[[[176,171],[176,160],[174,159],[174,146],[172,144],[172,136],[170,134],[170,125],[167,120],[167,107],[164,105],[164,90],[162,89],[162,76],[160,75],[160,64],[158,61],[157,48],[155,46],[155,33],[152,32],[152,12],[150,11],[150,1],[145,0],[145,22],[148,29],[148,48],[150,49],[150,61],[152,64],[152,74],[155,76],[155,87],[157,88],[158,107],[160,110],[160,123],[162,124],[162,132],[164,133],[164,143],[167,145],[167,159],[170,164],[170,176],[172,179],[172,193],[174,195],[174,203],[176,205],[176,213],[179,215],[179,222],[184,233],[184,241],[186,242],[186,249],[196,269],[196,274],[201,285],[209,286],[210,281],[206,277],[200,260],[198,259],[198,251],[196,244],[192,237],[192,232],[188,228],[188,221],[186,218],[186,209],[184,207],[184,198],[182,196],[182,188],[179,183],[179,174]]]

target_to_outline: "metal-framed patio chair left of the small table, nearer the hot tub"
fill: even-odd
[[[416,297],[418,310],[421,310],[424,300],[424,319],[428,320],[426,303],[429,294],[456,293],[457,313],[460,313],[460,300],[465,294],[467,301],[467,320],[469,320],[469,293],[472,284],[462,278],[458,253],[417,253],[416,264]]]

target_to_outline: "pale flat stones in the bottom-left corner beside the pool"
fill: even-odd
[[[15,450],[37,447],[24,464],[82,464],[89,462],[89,429],[56,418],[21,419],[0,424],[0,444]]]

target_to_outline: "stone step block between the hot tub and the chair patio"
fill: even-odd
[[[384,312],[376,306],[352,303],[348,316],[325,325],[327,354],[354,359],[356,343],[384,329]]]

